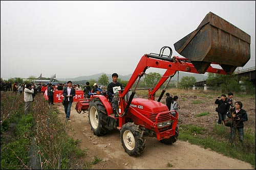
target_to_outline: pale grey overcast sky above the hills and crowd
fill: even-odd
[[[129,75],[165,45],[180,56],[209,12],[251,36],[239,69],[255,66],[255,1],[1,1],[1,78]]]

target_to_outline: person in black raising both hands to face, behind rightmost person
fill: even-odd
[[[217,120],[218,125],[221,125],[221,123],[225,120],[227,111],[229,110],[229,105],[227,103],[226,94],[221,94],[221,97],[218,96],[215,104],[218,104],[217,112],[219,119]]]

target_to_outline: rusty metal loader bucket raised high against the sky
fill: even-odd
[[[175,50],[204,74],[211,63],[227,74],[250,60],[250,35],[209,12],[198,28],[174,44]]]

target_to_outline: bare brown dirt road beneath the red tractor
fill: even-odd
[[[93,165],[93,169],[253,169],[251,164],[229,158],[197,145],[178,140],[173,145],[166,145],[156,138],[146,137],[146,149],[138,157],[129,156],[121,145],[120,133],[117,130],[105,136],[95,136],[89,125],[88,112],[78,114],[72,105],[68,123],[69,132],[74,139],[81,140],[80,148],[88,149],[88,162],[97,158],[103,159]],[[56,103],[59,118],[66,120],[61,103]]]

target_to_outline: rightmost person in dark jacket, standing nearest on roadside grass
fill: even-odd
[[[234,137],[236,131],[238,131],[239,140],[241,143],[244,141],[244,122],[248,120],[247,112],[242,109],[242,102],[234,103],[234,108],[231,108],[227,113],[227,117],[233,118],[233,123],[230,127],[230,137],[229,142],[232,144],[234,142]]]

